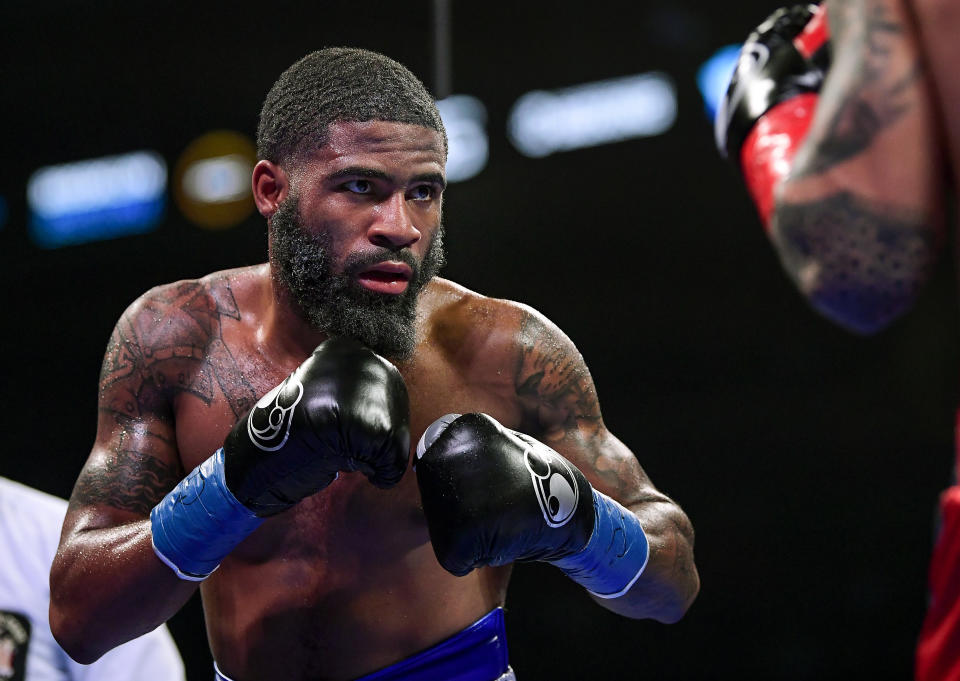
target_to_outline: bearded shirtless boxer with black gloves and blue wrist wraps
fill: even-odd
[[[573,343],[433,278],[446,136],[422,84],[310,54],[258,153],[269,262],[155,288],[110,340],[51,572],[64,648],[96,659],[199,584],[218,678],[507,679],[515,560],[679,619],[692,528],[604,427]]]

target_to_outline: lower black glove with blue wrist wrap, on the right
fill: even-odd
[[[604,598],[646,566],[640,521],[534,438],[486,414],[448,414],[417,446],[417,484],[437,560],[476,567],[540,560]]]

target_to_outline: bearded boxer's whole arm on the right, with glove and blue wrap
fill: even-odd
[[[438,560],[456,575],[543,560],[610,610],[678,620],[699,588],[689,520],[604,427],[573,343],[526,311],[518,347],[519,431],[449,415],[418,446]]]

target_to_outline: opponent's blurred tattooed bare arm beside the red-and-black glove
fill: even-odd
[[[828,0],[833,62],[771,236],[822,314],[859,333],[913,304],[942,241],[938,131],[902,0]]]

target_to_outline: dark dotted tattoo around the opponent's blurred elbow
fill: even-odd
[[[849,193],[783,204],[772,228],[785,268],[814,306],[855,329],[906,311],[934,264],[936,232],[922,216]]]

